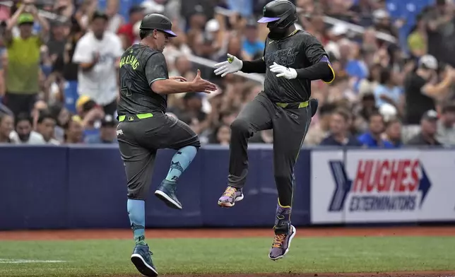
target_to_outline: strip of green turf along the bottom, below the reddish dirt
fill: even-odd
[[[0,276],[139,276],[131,240],[0,241]],[[288,256],[268,259],[271,240],[148,240],[160,274],[455,270],[455,237],[296,238]],[[2,264],[1,259],[64,260]]]

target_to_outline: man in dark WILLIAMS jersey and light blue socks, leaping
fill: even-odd
[[[128,180],[127,208],[136,247],[131,261],[146,276],[158,276],[145,242],[145,199],[158,149],[176,149],[167,177],[155,195],[171,208],[181,209],[176,196],[177,180],[200,147],[198,136],[187,124],[165,114],[167,95],[216,90],[198,70],[194,81],[169,78],[162,50],[175,37],[171,21],[149,14],[141,22],[141,42],[126,49],[120,60],[120,99],[117,106],[117,139]]]

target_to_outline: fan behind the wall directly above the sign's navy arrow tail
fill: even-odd
[[[362,146],[355,136],[350,134],[349,114],[344,110],[336,110],[331,114],[330,134],[321,141],[320,146]]]

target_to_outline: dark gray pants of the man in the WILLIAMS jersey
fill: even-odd
[[[161,112],[146,119],[127,115],[117,126],[117,139],[128,180],[128,199],[138,200],[148,196],[158,149],[201,146],[187,124]]]

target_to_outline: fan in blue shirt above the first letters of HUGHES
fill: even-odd
[[[394,148],[394,145],[389,141],[382,139],[382,133],[384,132],[384,118],[379,112],[375,112],[370,115],[369,119],[369,130],[358,137],[362,146],[368,148]]]

